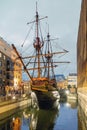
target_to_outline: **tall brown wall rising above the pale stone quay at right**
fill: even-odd
[[[78,88],[87,87],[87,0],[82,0],[77,40]]]

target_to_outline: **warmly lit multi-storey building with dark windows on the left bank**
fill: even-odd
[[[17,59],[12,46],[0,37],[0,87],[20,86],[22,64]]]

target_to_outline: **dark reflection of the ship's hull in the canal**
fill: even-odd
[[[57,110],[40,110],[36,130],[53,130],[57,117]]]

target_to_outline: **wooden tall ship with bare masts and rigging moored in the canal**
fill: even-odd
[[[61,52],[53,51],[53,44],[50,38],[49,29],[46,34],[46,38],[42,37],[40,22],[46,17],[39,17],[36,4],[36,15],[35,20],[27,24],[35,24],[35,37],[32,43],[33,55],[21,56],[17,51],[16,47],[12,44],[18,58],[23,64],[23,68],[30,78],[30,87],[35,92],[38,105],[40,108],[53,108],[58,105],[60,95],[55,77],[55,67],[57,63],[53,60],[54,55],[65,54],[68,51],[62,50]],[[31,46],[29,46],[31,48]],[[24,59],[27,59],[27,63],[24,63]],[[60,62],[63,63],[63,62]],[[69,62],[64,62],[69,63]]]

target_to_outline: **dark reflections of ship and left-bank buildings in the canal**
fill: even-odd
[[[57,117],[58,109],[27,108],[2,122],[0,130],[53,130]],[[16,119],[20,119],[21,127],[19,127],[20,122],[17,122]]]

